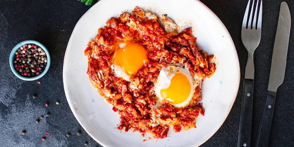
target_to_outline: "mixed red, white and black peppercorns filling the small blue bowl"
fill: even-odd
[[[26,44],[15,52],[13,63],[18,73],[26,77],[34,77],[42,73],[46,68],[47,55],[37,45]],[[38,67],[38,70],[35,70],[36,67]]]

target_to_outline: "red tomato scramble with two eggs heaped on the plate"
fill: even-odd
[[[216,64],[197,48],[191,27],[179,30],[167,15],[135,7],[110,18],[89,42],[87,74],[120,114],[118,129],[166,138],[169,126],[174,132],[196,128],[204,115],[202,81]]]

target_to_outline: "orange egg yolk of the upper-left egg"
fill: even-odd
[[[145,61],[147,61],[146,50],[138,43],[128,43],[123,49],[117,49],[115,53],[115,64],[123,67],[129,75],[137,73]]]

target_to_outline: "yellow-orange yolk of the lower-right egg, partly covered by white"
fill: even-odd
[[[182,73],[175,73],[172,77],[171,85],[167,89],[160,90],[161,96],[172,104],[184,102],[191,93],[191,85]]]

